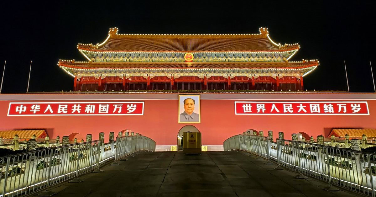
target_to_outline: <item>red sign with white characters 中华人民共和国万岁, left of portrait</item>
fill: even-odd
[[[144,102],[10,102],[8,116],[144,115]]]

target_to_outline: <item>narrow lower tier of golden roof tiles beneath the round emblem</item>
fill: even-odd
[[[276,63],[121,63],[121,62],[109,62],[109,63],[74,63],[74,62],[59,62],[59,66],[75,68],[75,69],[158,69],[158,68],[190,68],[190,69],[304,69],[309,67],[318,66],[317,61],[311,62],[276,62]]]

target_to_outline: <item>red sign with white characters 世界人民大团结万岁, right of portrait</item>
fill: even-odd
[[[367,101],[235,101],[235,115],[370,115]]]

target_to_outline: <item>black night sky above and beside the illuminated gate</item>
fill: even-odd
[[[7,61],[3,93],[26,92],[30,60],[29,92],[71,90],[73,78],[58,60],[86,61],[77,43],[102,43],[109,27],[120,34],[254,34],[268,27],[276,43],[300,44],[291,61],[320,61],[304,78],[305,89],[347,90],[345,60],[350,91],[373,92],[374,1],[10,2],[0,13],[1,73]]]

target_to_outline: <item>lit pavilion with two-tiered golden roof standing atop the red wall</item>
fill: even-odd
[[[289,61],[299,44],[259,34],[118,34],[101,44],[78,44],[88,60],[60,60],[75,91],[304,90],[317,60]]]

